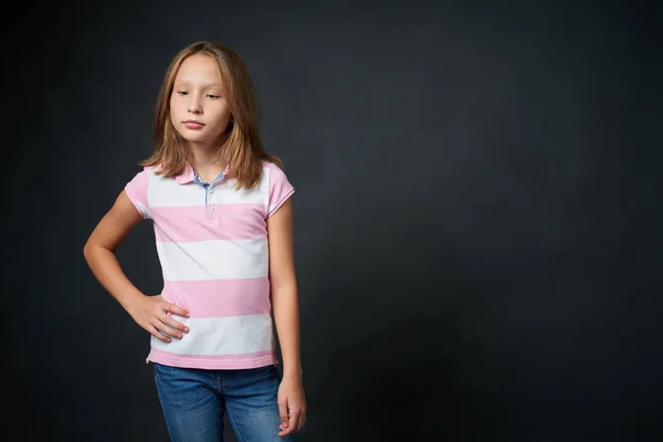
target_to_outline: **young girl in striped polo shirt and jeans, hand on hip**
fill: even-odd
[[[295,441],[306,420],[293,259],[294,189],[265,154],[245,65],[197,42],[172,60],[157,101],[156,149],[85,244],[99,283],[151,334],[172,441]],[[152,221],[164,291],[143,294],[115,250]],[[276,369],[272,312],[283,356]]]

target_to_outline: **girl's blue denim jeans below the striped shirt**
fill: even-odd
[[[296,442],[278,436],[276,366],[203,370],[154,364],[157,393],[173,442],[222,442],[223,413],[239,442]]]

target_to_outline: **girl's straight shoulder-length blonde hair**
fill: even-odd
[[[219,149],[222,165],[236,179],[236,189],[255,188],[262,177],[262,160],[283,168],[283,161],[267,155],[262,145],[257,101],[253,82],[242,59],[231,48],[213,41],[199,41],[182,49],[170,62],[159,91],[154,120],[155,150],[139,162],[140,166],[160,166],[159,175],[172,178],[180,175],[191,161],[191,151],[186,139],[178,134],[170,119],[170,95],[177,72],[190,55],[203,54],[214,60],[221,75],[221,87],[230,108],[225,134],[227,141]]]

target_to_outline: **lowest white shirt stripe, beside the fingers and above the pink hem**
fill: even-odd
[[[270,314],[219,318],[185,318],[172,315],[189,327],[181,339],[170,343],[151,336],[151,346],[177,355],[239,355],[273,348]]]

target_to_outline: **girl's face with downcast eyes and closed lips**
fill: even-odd
[[[217,63],[203,54],[187,57],[177,72],[170,95],[170,120],[175,129],[194,146],[218,148],[223,143],[229,118]]]

